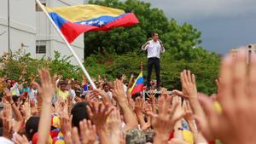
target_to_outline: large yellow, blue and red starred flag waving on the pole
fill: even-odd
[[[67,38],[68,43],[72,43],[83,32],[108,32],[114,27],[133,26],[139,23],[133,13],[95,4],[46,8],[46,10]]]

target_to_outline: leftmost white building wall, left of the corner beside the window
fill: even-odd
[[[36,13],[34,0],[10,0],[10,48],[24,45],[26,52],[35,54]],[[0,55],[8,51],[8,0],[0,4]]]

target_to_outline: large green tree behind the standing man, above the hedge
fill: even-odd
[[[84,57],[90,54],[125,54],[140,51],[152,32],[158,32],[166,49],[172,49],[177,58],[190,58],[187,49],[201,43],[201,32],[190,24],[179,26],[177,21],[168,20],[160,9],[150,7],[150,3],[139,0],[90,0],[89,3],[124,9],[133,12],[140,23],[129,28],[119,27],[110,32],[89,32],[84,34]]]

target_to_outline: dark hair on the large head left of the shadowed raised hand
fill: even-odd
[[[86,108],[87,106],[88,106],[88,103],[86,102],[78,102],[73,106],[71,110],[71,114],[73,115],[72,124],[78,129],[79,129],[80,121],[82,121],[83,119],[89,119],[89,115],[87,113],[87,108]]]

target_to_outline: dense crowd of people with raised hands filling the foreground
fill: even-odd
[[[224,56],[218,91],[198,92],[195,75],[180,73],[182,89],[131,95],[133,76],[97,89],[38,71],[39,82],[2,78],[0,144],[253,144],[256,143],[256,55]],[[199,76],[200,77],[200,76]]]

